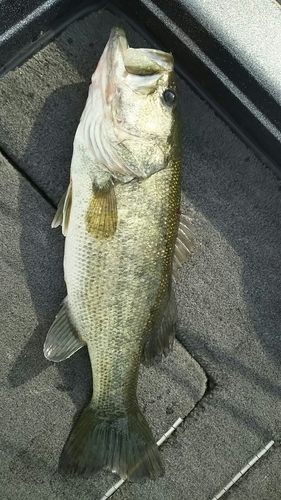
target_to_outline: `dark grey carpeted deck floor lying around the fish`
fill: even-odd
[[[0,82],[0,147],[13,162],[0,157],[5,500],[99,500],[117,480],[109,472],[63,478],[56,470],[91,376],[86,350],[59,365],[43,357],[65,295],[63,237],[50,229],[54,208],[18,172],[58,202],[90,76],[114,25],[125,27],[132,46],[147,46],[104,10],[70,26]],[[197,245],[175,290],[187,351],[177,344],[162,364],[143,370],[139,392],[156,438],[197,406],[162,448],[165,476],[126,483],[114,498],[211,500],[274,439],[228,495],[280,500],[280,185],[184,82],[179,87],[182,211],[193,220]]]

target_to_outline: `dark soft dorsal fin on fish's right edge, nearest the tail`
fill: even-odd
[[[149,366],[156,356],[167,356],[171,351],[177,323],[177,306],[173,289],[171,289],[169,301],[165,313],[154,327],[154,331],[147,340],[143,349],[144,364]]]

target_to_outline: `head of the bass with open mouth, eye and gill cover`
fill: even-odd
[[[113,177],[141,179],[168,165],[177,108],[173,56],[131,48],[124,31],[113,28],[77,132]]]

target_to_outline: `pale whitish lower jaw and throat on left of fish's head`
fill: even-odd
[[[92,75],[88,99],[74,139],[74,149],[89,158],[89,163],[99,164],[115,179],[129,182],[132,172],[116,154],[117,142],[112,126],[111,101],[116,81],[125,72],[123,53],[128,48],[125,32],[113,28],[97,68]]]

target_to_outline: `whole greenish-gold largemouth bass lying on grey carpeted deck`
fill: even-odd
[[[93,393],[60,468],[156,479],[162,458],[137,400],[141,363],[171,350],[173,276],[193,228],[180,213],[181,137],[174,60],[132,48],[113,28],[92,76],[73,143],[70,181],[52,227],[65,236],[67,297],[47,334],[61,362],[87,346]]]

